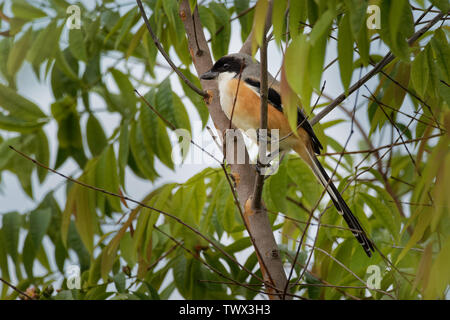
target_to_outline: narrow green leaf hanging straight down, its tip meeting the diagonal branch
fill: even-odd
[[[339,23],[338,59],[342,85],[346,94],[353,74],[353,38],[351,37],[350,19],[345,15]]]

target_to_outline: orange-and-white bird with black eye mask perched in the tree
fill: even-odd
[[[294,150],[311,168],[317,180],[325,187],[338,213],[343,217],[353,235],[370,258],[374,244],[367,236],[358,219],[331,181],[316,155],[323,149],[311,124],[300,108],[297,108],[297,135],[292,134],[288,120],[283,113],[283,99],[280,83],[269,72],[267,129],[279,130],[280,153]],[[250,55],[228,54],[218,59],[213,67],[200,75],[202,80],[216,80],[219,87],[220,104],[232,124],[243,130],[258,130],[261,119],[261,66]]]

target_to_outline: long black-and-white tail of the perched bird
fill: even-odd
[[[361,244],[367,256],[371,257],[372,251],[375,251],[372,241],[367,237],[367,234],[360,225],[358,219],[353,215],[347,203],[345,203],[341,194],[339,193],[333,182],[330,180],[330,177],[323,168],[322,164],[319,162],[316,156],[312,152],[309,152],[304,146],[295,148],[295,151],[311,167],[314,175],[326,188],[337,211],[344,218],[348,227],[352,229],[353,235]]]

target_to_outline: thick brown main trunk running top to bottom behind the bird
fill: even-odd
[[[184,23],[186,35],[188,39],[188,46],[190,48],[191,56],[193,58],[194,67],[197,74],[203,74],[212,67],[211,53],[208,47],[208,43],[201,27],[201,22],[198,16],[198,9],[196,8],[191,13],[189,1],[183,0],[180,3],[180,17]],[[196,28],[194,29],[194,22]],[[196,56],[194,54],[195,48],[199,47],[204,54]],[[250,45],[251,47],[251,45]],[[209,96],[207,101],[209,113],[212,121],[219,132],[219,137],[223,141],[224,133],[229,126],[229,119],[223,113],[219,101],[219,90],[216,81],[201,80],[202,88],[208,92]],[[238,134],[238,138],[242,139],[241,134]],[[253,165],[250,164],[248,152],[245,150],[245,163],[236,164],[230,155],[227,155],[227,162],[230,164],[231,175],[235,177],[236,194],[239,199],[239,205],[244,208],[244,212],[250,209],[250,205],[247,205],[248,199],[251,197],[254,190],[254,181],[256,171]],[[266,212],[260,214],[247,214],[246,224],[248,226],[249,235],[254,241],[255,250],[257,248],[258,260],[260,262],[260,268],[266,281],[266,287],[270,288],[284,288],[286,283],[286,275],[284,273],[283,264],[280,258],[279,249],[275,238],[273,236],[272,227],[268,219]],[[270,276],[269,276],[270,275]],[[270,286],[270,282],[273,285]],[[279,289],[280,291],[282,289]],[[275,296],[276,294],[274,294]]]

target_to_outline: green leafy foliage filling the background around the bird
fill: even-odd
[[[192,8],[197,4],[189,2]],[[146,99],[175,128],[191,131],[192,115],[185,108],[188,100],[203,127],[208,110],[183,82],[183,93],[172,90],[179,81],[175,76],[169,74],[160,81],[160,55],[137,6],[109,0],[88,10],[77,2],[81,29],[68,30],[69,1],[40,3],[14,0],[0,4],[0,11],[12,14],[8,20],[0,20],[0,28],[9,30],[9,36],[0,38],[0,170],[13,173],[28,197],[36,201],[36,207],[27,212],[1,212],[1,277],[15,281],[20,290],[36,288],[27,292],[41,299],[167,299],[175,290],[186,299],[254,298],[264,288],[235,259],[257,276],[261,271],[254,253],[242,253],[252,246],[223,170],[206,168],[182,184],[158,188],[153,184],[161,176],[157,163],[175,168],[170,157],[172,130],[136,97],[134,88],[144,88]],[[190,71],[192,58],[178,14],[179,2],[144,3],[151,9],[150,24],[163,47],[199,86]],[[431,3],[433,10],[449,9],[447,1]],[[366,27],[369,4],[381,8],[381,29]],[[228,52],[231,38],[245,41],[252,27],[256,51],[268,6],[260,0],[256,9],[247,10],[254,5],[250,0],[198,3],[215,59]],[[297,243],[291,239],[300,239],[304,230],[300,222],[308,220],[309,210],[319,202],[316,211],[326,211],[320,215],[322,226],[315,241],[321,250],[314,251],[300,282],[308,286],[299,286],[297,295],[311,299],[446,297],[450,282],[448,25],[438,23],[411,47],[407,42],[423,26],[415,21],[428,6],[423,0],[275,0],[273,38],[276,46],[286,49],[284,68],[290,88],[284,93],[299,99],[307,114],[323,84],[326,53],[336,47],[336,41],[337,50],[332,54],[337,57],[339,76],[335,81],[341,81],[344,92],[360,71],[364,74],[380,60],[378,43],[396,57],[371,86],[373,96],[360,97],[364,101],[358,110],[369,124],[360,129],[361,152],[345,154],[342,159],[339,155],[321,158],[330,172],[339,163],[339,189],[383,256],[376,253],[368,259],[351,232],[333,227],[345,224],[334,208],[326,210],[329,203],[321,200],[322,189],[297,157],[288,156],[265,184],[264,202],[274,232],[282,234],[280,247],[286,263],[292,262]],[[246,10],[236,22],[241,34],[233,33],[230,19]],[[105,67],[111,56],[114,63]],[[51,112],[44,112],[35,99],[17,92],[20,84],[16,77],[25,64],[51,86]],[[142,77],[133,72],[135,64],[145,67]],[[91,103],[94,95],[104,101],[108,113],[120,118],[110,135]],[[326,105],[321,102],[317,109]],[[290,114],[296,117],[295,112]],[[51,124],[57,125],[56,137],[48,136]],[[325,119],[314,127],[327,152],[345,149],[324,134],[338,124],[353,128],[350,118]],[[375,139],[383,143],[375,145]],[[401,144],[405,140],[412,142]],[[52,141],[56,146],[51,146]],[[77,180],[116,194],[126,193],[125,178],[131,170],[149,181],[152,189],[141,202],[159,211],[69,182],[65,183],[67,198],[62,207],[52,189],[39,202],[36,183],[44,183],[49,172],[9,145],[56,169],[73,159],[82,172]],[[367,149],[371,151],[364,152]],[[163,213],[196,228],[210,241]],[[231,244],[225,245],[225,238],[231,239]],[[303,243],[300,264],[306,263],[313,242]],[[81,289],[69,290],[64,281],[61,290],[52,293],[49,286],[66,276],[72,264],[81,268]],[[382,270],[380,290],[367,290],[357,278],[367,280],[369,265]],[[44,272],[36,274],[37,266]],[[295,271],[292,280],[300,280],[302,266],[296,265]],[[252,290],[227,284],[230,281],[251,285]],[[15,299],[18,293],[2,284],[0,297]]]

